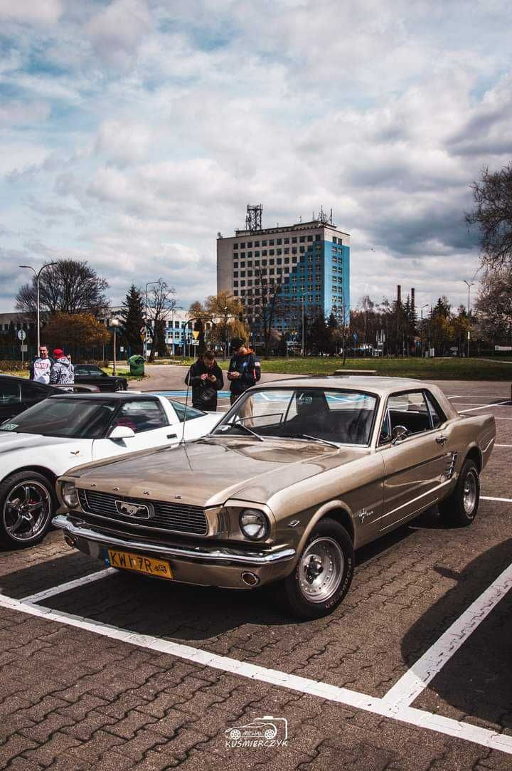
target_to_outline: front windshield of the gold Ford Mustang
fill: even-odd
[[[243,394],[213,433],[365,445],[370,443],[376,404],[376,396],[359,391],[260,389]]]

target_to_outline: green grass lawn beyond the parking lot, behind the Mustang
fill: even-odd
[[[174,363],[189,366],[195,359],[182,359]],[[217,360],[221,369],[227,369],[228,361]],[[265,359],[260,357],[263,372],[286,372],[289,375],[332,375],[336,369],[374,369],[377,375],[419,378],[427,380],[505,380],[512,381],[512,362],[504,359],[420,359],[410,356],[404,359]]]

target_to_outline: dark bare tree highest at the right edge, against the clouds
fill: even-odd
[[[512,163],[500,171],[482,171],[471,184],[476,208],[465,215],[480,228],[482,262],[487,268],[512,266]]]

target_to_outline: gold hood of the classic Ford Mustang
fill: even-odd
[[[70,470],[79,487],[126,497],[216,506],[228,498],[265,503],[279,490],[356,460],[366,447],[254,439],[199,439]]]

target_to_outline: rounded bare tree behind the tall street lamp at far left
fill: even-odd
[[[108,281],[101,278],[86,261],[59,260],[42,272],[39,279],[39,304],[43,313],[80,313],[97,315],[109,307],[105,298]],[[35,315],[36,280],[24,284],[16,295],[16,308]]]

